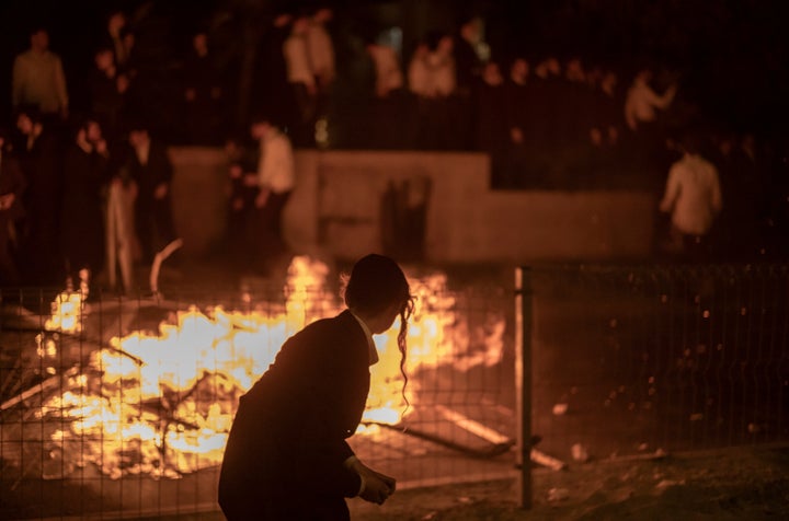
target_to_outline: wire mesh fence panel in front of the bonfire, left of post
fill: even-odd
[[[215,510],[239,396],[284,340],[343,309],[327,271],[285,287],[118,297],[7,292],[0,322],[0,518]],[[403,392],[397,327],[376,336],[353,447],[408,486],[512,471],[512,297],[409,274]],[[484,286],[484,285],[483,285]],[[8,297],[13,293],[13,303]]]

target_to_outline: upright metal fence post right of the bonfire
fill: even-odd
[[[518,503],[531,508],[531,270],[515,269],[515,402]]]

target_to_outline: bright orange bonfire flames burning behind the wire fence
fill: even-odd
[[[342,310],[339,297],[327,290],[328,276],[322,263],[295,257],[279,311],[193,306],[162,322],[155,334],[135,332],[93,350],[87,366],[60,375],[62,391],[37,413],[39,420],[58,427],[45,443],[57,472],[45,470],[44,477],[65,477],[93,464],[112,478],[174,478],[219,464],[239,396],[265,372],[288,336]],[[409,279],[418,302],[409,328],[410,374],[442,363],[466,370],[500,361],[503,319],[487,348],[473,355],[468,322],[456,316],[455,298],[445,291],[446,276]],[[79,333],[83,313],[79,293],[62,293],[46,327]],[[359,428],[366,436],[376,433],[376,424],[403,421],[398,327],[396,322],[376,338],[380,361],[370,368],[370,396]],[[39,339],[39,346],[43,357],[54,358],[55,343]],[[418,404],[419,382],[412,380],[407,392],[409,402]]]

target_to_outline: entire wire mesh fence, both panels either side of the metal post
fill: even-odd
[[[517,313],[508,275],[409,274],[409,404],[381,335],[363,461],[402,488],[512,478],[521,412],[549,466],[789,439],[789,267],[521,276]],[[216,510],[239,395],[287,336],[342,309],[324,277],[168,299],[3,290],[0,518]]]

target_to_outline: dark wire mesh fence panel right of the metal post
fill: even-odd
[[[787,266],[533,277],[541,448],[572,460],[789,439]]]

